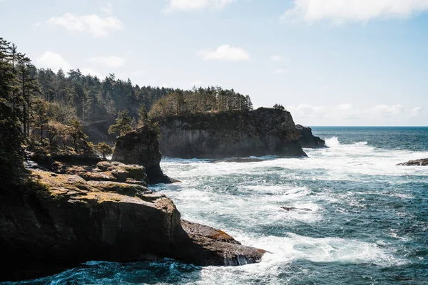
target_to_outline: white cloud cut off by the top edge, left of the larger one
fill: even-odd
[[[200,11],[207,8],[222,9],[233,0],[169,0],[163,9],[168,14],[173,11]]]

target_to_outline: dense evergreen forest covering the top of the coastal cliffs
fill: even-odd
[[[79,69],[36,68],[14,43],[0,38],[1,171],[21,165],[23,145],[30,150],[98,150],[105,155],[106,145],[95,148],[83,133],[89,123],[107,121],[112,123],[109,133],[123,135],[163,116],[252,108],[248,95],[218,86],[140,87],[113,73],[100,79]]]

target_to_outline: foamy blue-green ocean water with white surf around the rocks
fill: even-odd
[[[304,158],[161,163],[183,182],[153,189],[183,219],[271,252],[259,264],[91,261],[14,284],[428,284],[428,167],[397,166],[428,157],[428,128],[312,130],[329,148]]]

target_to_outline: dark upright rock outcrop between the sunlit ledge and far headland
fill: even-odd
[[[173,183],[161,170],[158,133],[155,128],[144,125],[118,138],[112,160],[128,165],[143,165],[150,184]]]

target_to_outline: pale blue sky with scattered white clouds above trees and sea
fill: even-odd
[[[428,0],[0,0],[39,68],[222,86],[302,125],[428,125]]]

